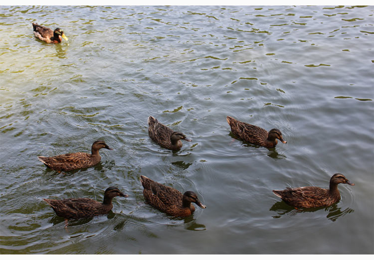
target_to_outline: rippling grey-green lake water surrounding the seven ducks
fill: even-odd
[[[1,6],[1,254],[373,254],[373,6]],[[31,22],[60,27],[51,45]],[[148,137],[148,116],[184,132],[180,151]],[[226,116],[278,128],[258,147]],[[38,155],[90,151],[58,174]],[[327,188],[329,208],[272,194]],[[140,175],[207,206],[173,218],[144,203]],[[57,217],[43,198],[118,186],[113,212]]]

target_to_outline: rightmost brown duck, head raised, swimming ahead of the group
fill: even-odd
[[[295,208],[328,207],[340,201],[338,184],[355,185],[341,173],[335,173],[330,179],[330,188],[300,187],[273,190],[273,193]]]

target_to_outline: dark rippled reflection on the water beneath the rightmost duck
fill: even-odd
[[[311,208],[311,209],[295,209],[292,206],[287,205],[284,201],[277,201],[274,205],[270,208],[270,211],[275,211],[278,215],[272,216],[274,219],[280,218],[283,215],[287,216],[295,216],[296,214],[303,214],[307,212],[316,212],[319,210],[325,210],[328,212],[326,218],[331,221],[336,221],[339,217],[342,217],[348,213],[353,213],[354,210],[351,208],[346,208],[342,210],[342,208],[338,208],[337,203],[331,205],[330,207],[320,207],[320,208]]]

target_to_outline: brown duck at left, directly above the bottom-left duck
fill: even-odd
[[[113,150],[104,141],[97,140],[91,146],[91,154],[85,152],[74,152],[60,154],[53,157],[38,156],[39,161],[48,168],[61,172],[94,166],[101,160],[99,150],[106,148]]]

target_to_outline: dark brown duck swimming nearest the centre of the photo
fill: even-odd
[[[148,126],[149,136],[161,147],[179,150],[183,145],[181,140],[192,141],[182,132],[171,130],[167,126],[159,123],[159,121],[152,116],[148,118]]]

